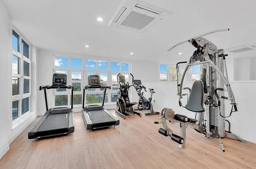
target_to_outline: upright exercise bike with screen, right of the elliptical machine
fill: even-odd
[[[133,79],[133,76],[132,76]],[[151,115],[156,115],[156,114],[160,114],[160,112],[154,112],[153,109],[153,105],[152,102],[155,102],[155,100],[152,101],[152,95],[153,93],[155,93],[154,88],[149,88],[149,92],[150,94],[150,98],[146,99],[143,96],[143,92],[141,91],[142,89],[145,90],[145,92],[147,92],[146,87],[142,85],[140,80],[133,80],[132,81],[134,88],[136,89],[139,99],[138,99],[138,107],[134,110],[150,110],[150,113],[145,113],[146,116],[151,116]]]

